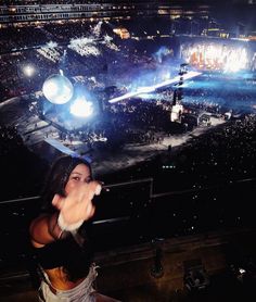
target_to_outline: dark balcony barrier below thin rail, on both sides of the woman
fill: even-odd
[[[99,252],[155,238],[255,226],[256,179],[162,193],[154,192],[152,178],[107,188],[108,192],[94,199],[97,212],[92,224],[86,226]],[[28,226],[39,209],[39,197],[0,203],[0,269],[26,259]]]

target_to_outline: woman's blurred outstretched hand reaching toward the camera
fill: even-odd
[[[82,183],[77,185],[66,197],[55,194],[52,204],[60,210],[65,224],[85,222],[90,219],[95,212],[92,199],[95,194],[100,194],[101,188],[99,181]]]

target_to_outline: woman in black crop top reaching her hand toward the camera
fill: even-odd
[[[56,160],[42,193],[42,213],[29,232],[42,273],[39,301],[117,301],[93,289],[97,277],[91,249],[80,226],[95,211],[92,199],[101,185],[92,180],[91,167],[81,158]]]

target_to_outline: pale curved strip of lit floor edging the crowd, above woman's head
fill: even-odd
[[[41,156],[46,155],[43,154],[43,148],[41,144],[46,139],[53,139],[53,141],[56,140],[60,144],[63,144],[78,154],[86,150],[87,155],[92,160],[92,167],[95,174],[112,173],[132,166],[155,156],[157,152],[167,151],[168,146],[171,146],[172,148],[180,147],[188,142],[193,136],[200,136],[214,126],[225,123],[221,118],[213,117],[210,127],[201,126],[194,128],[193,131],[188,131],[183,135],[165,135],[164,140],[161,143],[125,144],[119,152],[113,152],[102,150],[101,148],[94,148],[90,151],[82,141],[69,142],[60,140],[59,130],[47,122],[41,121],[38,116],[31,115],[29,112],[25,111],[18,100],[1,104],[0,115],[5,125],[16,125],[18,133],[24,139],[24,143]]]

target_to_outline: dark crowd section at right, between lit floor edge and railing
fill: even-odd
[[[144,177],[157,165],[156,175],[159,179],[168,175],[176,190],[221,186],[254,178],[255,126],[255,114],[229,121],[205,135],[193,137],[180,150],[170,154],[166,152],[166,155],[156,158],[153,163],[143,164],[137,177]],[[146,165],[149,168],[145,168]],[[168,184],[159,181],[158,190],[166,190]]]

